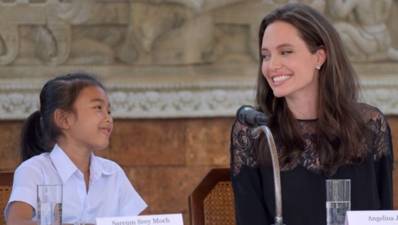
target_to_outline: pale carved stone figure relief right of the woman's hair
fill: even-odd
[[[353,62],[398,61],[386,21],[392,0],[328,0],[334,26]]]

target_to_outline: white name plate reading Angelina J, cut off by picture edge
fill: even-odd
[[[398,210],[347,211],[345,225],[397,225]]]

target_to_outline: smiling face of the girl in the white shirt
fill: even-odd
[[[105,91],[97,86],[84,88],[74,105],[75,113],[68,117],[68,144],[88,150],[103,149],[109,144],[113,119]]]

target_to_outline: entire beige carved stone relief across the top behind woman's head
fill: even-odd
[[[15,0],[0,1],[0,65],[224,63],[216,42],[228,26],[246,27],[245,40],[223,40],[255,62],[261,18],[296,1],[335,21],[352,61],[398,60],[386,24],[392,0]]]

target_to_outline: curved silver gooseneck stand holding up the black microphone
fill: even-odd
[[[267,136],[268,146],[271,150],[272,168],[274,170],[274,186],[275,186],[275,224],[283,225],[282,221],[282,191],[281,191],[281,174],[279,170],[279,160],[277,148],[275,147],[274,137],[271,130],[266,125],[260,125],[250,130],[252,138],[258,138],[260,133],[264,132]]]

